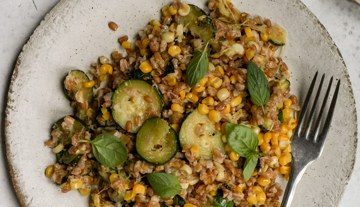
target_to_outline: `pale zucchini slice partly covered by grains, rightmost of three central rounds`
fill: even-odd
[[[200,137],[195,133],[198,127],[204,127],[204,135]],[[212,159],[214,148],[225,153],[225,143],[221,137],[222,132],[215,129],[215,122],[210,121],[208,115],[201,114],[197,109],[184,117],[179,130],[181,147],[186,144],[197,145],[200,149],[200,156],[206,160]]]

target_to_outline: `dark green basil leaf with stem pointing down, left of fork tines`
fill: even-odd
[[[265,114],[264,105],[270,98],[269,82],[264,72],[251,61],[247,69],[247,84],[251,98],[256,105],[262,107],[262,111]]]

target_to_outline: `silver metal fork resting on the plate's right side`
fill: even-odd
[[[291,142],[292,164],[289,174],[289,181],[285,189],[281,207],[290,206],[297,185],[299,184],[302,176],[304,175],[305,170],[312,162],[314,162],[316,159],[318,159],[321,156],[321,153],[323,152],[324,149],[326,137],[328,136],[329,133],[330,123],[333,118],[336,99],[339,92],[340,79],[338,80],[338,83],[336,85],[333,99],[331,101],[327,117],[325,119],[323,131],[320,133],[319,130],[321,125],[321,119],[323,117],[326,102],[329,97],[330,88],[333,82],[333,77],[330,78],[330,83],[326,91],[323,104],[321,105],[318,118],[316,119],[316,122],[314,124],[315,107],[319,100],[319,95],[320,95],[321,87],[323,86],[325,74],[321,77],[319,89],[318,92],[316,93],[314,104],[312,105],[312,108],[310,110],[309,117],[306,117],[306,111],[309,107],[310,97],[312,94],[312,90],[314,89],[317,76],[318,76],[318,72],[316,72],[314,78],[312,79],[309,91],[307,91],[305,102],[303,104],[300,116],[297,121],[297,127],[294,132],[294,136],[292,138],[292,142]],[[311,131],[313,125],[315,125],[315,128],[314,130]]]

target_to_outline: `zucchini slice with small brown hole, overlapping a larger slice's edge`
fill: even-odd
[[[136,135],[136,151],[151,165],[163,165],[177,152],[177,135],[160,117],[147,119]]]

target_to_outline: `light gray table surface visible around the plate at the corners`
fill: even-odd
[[[302,0],[319,18],[338,46],[350,75],[357,111],[360,111],[360,6],[351,0]],[[4,117],[6,98],[15,61],[23,45],[59,0],[1,0],[0,1],[0,70],[1,147],[0,147],[0,206],[20,207],[9,174],[5,154]],[[36,5],[36,6],[35,6]],[[357,157],[360,155],[358,147]],[[347,185],[340,207],[354,206],[360,196],[360,161]],[[356,206],[357,204],[355,204]]]

